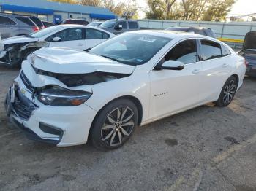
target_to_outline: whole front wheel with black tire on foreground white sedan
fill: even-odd
[[[116,149],[132,136],[138,125],[138,109],[129,99],[111,102],[99,112],[91,129],[91,141],[99,149]]]

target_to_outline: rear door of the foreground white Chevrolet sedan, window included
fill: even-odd
[[[198,39],[200,44],[200,59],[202,63],[202,84],[204,98],[214,101],[219,97],[225,81],[230,75],[228,56],[222,53],[222,46],[218,42],[208,39]]]

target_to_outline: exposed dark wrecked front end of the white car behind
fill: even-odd
[[[24,42],[4,44],[4,50],[0,52],[0,63],[8,66],[19,66],[26,57],[42,47],[49,47],[48,42]]]

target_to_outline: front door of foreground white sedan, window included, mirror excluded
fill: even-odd
[[[167,114],[196,106],[201,101],[201,63],[198,62],[195,39],[185,40],[173,47],[162,58],[165,61],[181,61],[184,69],[152,70],[150,117],[164,117]]]

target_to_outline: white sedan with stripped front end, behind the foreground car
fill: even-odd
[[[10,67],[19,66],[26,57],[41,47],[68,47],[86,50],[113,37],[108,31],[80,25],[50,26],[26,36],[4,39],[0,61]]]

